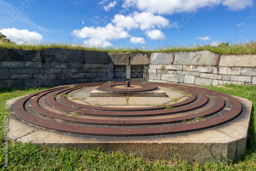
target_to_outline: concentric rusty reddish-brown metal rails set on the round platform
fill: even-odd
[[[119,83],[115,82],[113,84]],[[166,110],[166,105],[132,109],[105,108],[74,103],[65,97],[66,94],[77,89],[101,86],[103,84],[108,85],[105,82],[84,83],[77,84],[74,87],[63,86],[33,93],[17,101],[14,105],[14,112],[20,119],[26,122],[51,130],[85,135],[127,137],[177,134],[203,130],[227,123],[238,117],[243,110],[238,100],[221,92],[194,86],[180,86],[178,84],[158,82],[151,82],[150,85],[155,87],[173,87],[188,92],[191,94],[191,97],[183,102],[172,104],[173,109],[171,110]],[[108,87],[111,87],[111,84]],[[62,104],[56,101],[55,96],[57,94],[61,94],[60,100]],[[211,104],[213,105],[209,106],[209,98],[206,95],[214,97],[214,99],[211,99]],[[42,97],[47,97],[49,106],[51,105],[52,108],[62,110],[65,114],[44,109],[44,106],[39,105]],[[40,115],[47,116],[46,118],[57,120],[52,121],[51,119],[36,117],[37,115],[26,111],[25,106],[32,108]],[[68,113],[75,111],[92,118],[68,116]],[[176,114],[184,115],[173,117]],[[164,118],[161,118],[162,116]],[[207,118],[209,116],[214,117]],[[138,117],[141,119],[138,119]],[[183,123],[183,121],[189,121],[198,117],[204,117],[205,120],[196,123]],[[62,122],[58,122],[58,120]],[[102,127],[100,125],[105,126]]]

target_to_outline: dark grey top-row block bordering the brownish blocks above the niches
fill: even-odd
[[[109,55],[106,52],[84,52],[86,63],[109,63]]]

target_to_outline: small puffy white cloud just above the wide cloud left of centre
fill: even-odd
[[[137,29],[139,27],[132,16],[124,16],[121,14],[115,15],[112,23],[117,27],[126,28],[127,30]]]

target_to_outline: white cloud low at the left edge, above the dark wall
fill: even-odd
[[[12,29],[2,29],[0,30],[1,33],[10,38],[13,41],[41,41],[42,35],[35,32],[35,31],[28,31],[28,30],[18,30],[15,28]]]

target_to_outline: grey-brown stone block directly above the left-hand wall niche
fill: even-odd
[[[127,65],[130,63],[128,53],[108,53],[109,62],[113,65]]]

